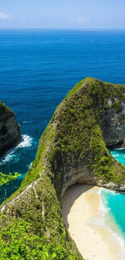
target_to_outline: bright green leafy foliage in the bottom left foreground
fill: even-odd
[[[75,255],[68,255],[62,246],[49,243],[47,237],[40,238],[30,233],[28,223],[13,220],[0,233],[1,260],[78,260]]]

